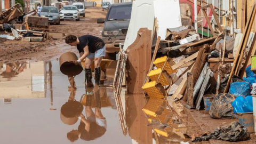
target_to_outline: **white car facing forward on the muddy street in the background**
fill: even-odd
[[[75,19],[76,21],[79,21],[79,17],[80,14],[77,7],[73,5],[63,6],[60,11],[60,20]]]

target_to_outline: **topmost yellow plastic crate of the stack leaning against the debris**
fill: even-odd
[[[162,68],[164,66],[164,63],[165,63],[166,59],[168,59],[167,56],[157,58],[153,63],[157,68]],[[165,64],[164,70],[166,70],[168,74],[176,73],[177,70],[172,69],[172,66],[174,64],[175,63],[173,62],[172,59],[168,59],[166,64]]]

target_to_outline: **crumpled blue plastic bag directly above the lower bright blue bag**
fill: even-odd
[[[234,94],[236,96],[246,97],[251,95],[251,86],[247,82],[234,82],[230,85],[229,94]]]

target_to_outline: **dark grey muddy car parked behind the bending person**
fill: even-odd
[[[104,23],[102,39],[106,43],[106,52],[119,52],[119,43],[124,43],[132,12],[132,2],[111,4],[106,19],[98,19]]]

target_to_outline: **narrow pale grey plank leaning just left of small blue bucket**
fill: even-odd
[[[204,78],[204,82],[203,82],[203,84],[202,84],[202,87],[201,87],[201,89],[200,89],[200,91],[199,91],[199,93],[198,93],[198,97],[197,97],[197,99],[196,99],[196,109],[197,109],[197,110],[200,109],[200,105],[201,105],[201,101],[202,101],[202,99],[203,99],[203,95],[204,95],[205,89],[206,89],[207,84],[208,84],[208,82],[209,82],[209,79],[210,79],[210,77],[211,77],[212,75],[213,75],[213,73],[212,73],[211,69],[208,69],[208,70],[207,70],[207,74],[206,74],[206,76],[205,76],[205,78]]]

